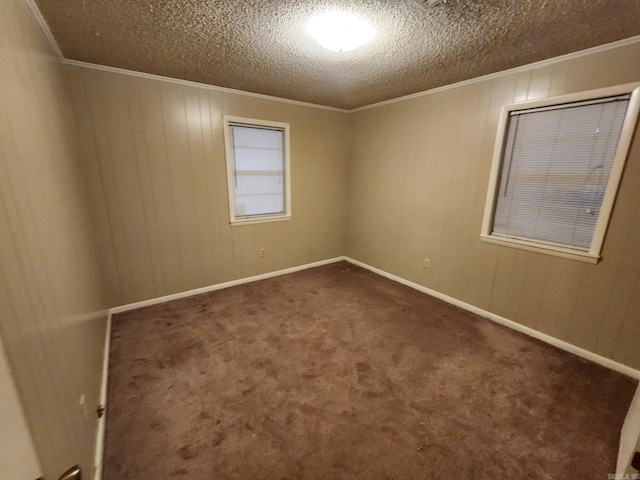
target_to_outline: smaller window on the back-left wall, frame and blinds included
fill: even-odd
[[[232,224],[291,218],[289,124],[224,116]]]

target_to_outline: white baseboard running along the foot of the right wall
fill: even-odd
[[[388,278],[389,280],[393,280],[394,282],[401,283],[402,285],[406,285],[407,287],[411,287],[420,292],[426,293],[427,295],[431,295],[432,297],[439,298],[440,300],[444,300],[451,305],[455,305],[456,307],[460,307],[463,310],[467,310],[468,312],[475,313],[476,315],[480,315],[483,318],[491,320],[493,322],[499,323],[500,325],[504,325],[512,330],[515,330],[520,333],[524,333],[530,337],[541,340],[549,345],[553,345],[561,350],[564,350],[569,353],[573,353],[578,357],[584,358],[586,360],[590,360],[598,365],[602,365],[610,370],[614,370],[618,373],[626,375],[628,377],[634,378],[636,380],[640,380],[640,370],[636,370],[635,368],[631,368],[627,365],[623,365],[622,363],[616,362],[609,358],[603,357],[602,355],[598,355],[597,353],[590,352],[589,350],[585,350],[584,348],[577,347],[571,343],[565,342],[564,340],[559,340],[551,335],[547,335],[546,333],[539,332],[534,330],[533,328],[525,327],[513,320],[509,320],[508,318],[501,317],[500,315],[496,315],[495,313],[491,313],[482,308],[476,307],[475,305],[471,305],[469,303],[463,302],[462,300],[458,300],[457,298],[450,297],[449,295],[445,295],[444,293],[440,293],[436,290],[432,290],[418,283],[411,282],[402,277],[394,275],[389,272],[385,272],[384,270],[380,270],[379,268],[372,267],[364,262],[360,262],[358,260],[354,260],[350,257],[344,257],[344,259],[352,263],[353,265],[357,265],[366,270],[369,270],[373,273],[376,273],[382,277]]]

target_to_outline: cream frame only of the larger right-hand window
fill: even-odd
[[[543,244],[522,239],[508,238],[503,236],[492,235],[493,221],[495,215],[497,189],[500,178],[500,167],[503,161],[504,149],[507,139],[507,127],[509,125],[510,113],[517,110],[528,110],[532,108],[561,106],[565,103],[573,103],[580,101],[594,100],[603,97],[612,97],[616,95],[631,94],[629,106],[622,124],[620,140],[616,150],[609,181],[605,190],[604,199],[600,208],[600,214],[596,223],[591,246],[588,251],[580,251],[568,247]],[[640,110],[640,83],[629,83],[615,87],[601,88],[580,92],[560,97],[545,98],[521,103],[514,103],[502,107],[500,120],[498,122],[498,134],[493,151],[493,163],[491,165],[491,174],[489,177],[489,187],[487,190],[487,200],[484,209],[484,218],[482,221],[482,231],[480,239],[483,242],[502,245],[506,247],[519,248],[532,252],[545,253],[558,257],[579,260],[587,263],[598,263],[601,258],[602,245],[606,235],[609,219],[613,210],[622,172],[627,160],[631,140],[635,132],[638,120],[638,111]]]

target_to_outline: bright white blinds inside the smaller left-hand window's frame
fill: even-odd
[[[284,129],[229,123],[235,217],[285,213]]]

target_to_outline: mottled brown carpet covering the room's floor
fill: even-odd
[[[115,316],[104,480],[604,480],[635,387],[341,262]]]

